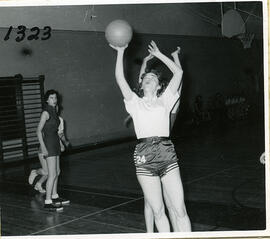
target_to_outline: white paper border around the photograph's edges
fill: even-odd
[[[17,0],[8,1],[1,0],[0,7],[27,7],[27,6],[75,6],[75,5],[112,5],[112,4],[143,4],[143,3],[210,3],[210,2],[232,2],[231,0]],[[254,0],[238,0],[236,2],[254,2]],[[137,239],[137,238],[270,238],[270,165],[269,165],[269,73],[268,73],[268,57],[269,57],[269,40],[268,40],[268,1],[258,1],[263,4],[263,45],[264,45],[264,105],[265,105],[265,192],[266,192],[266,230],[256,231],[220,231],[220,232],[191,232],[191,233],[129,233],[129,234],[87,234],[87,235],[53,235],[53,236],[1,236],[3,239]]]

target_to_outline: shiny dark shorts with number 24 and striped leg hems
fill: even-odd
[[[137,175],[162,177],[178,168],[178,158],[169,138],[150,137],[138,141],[134,151]]]

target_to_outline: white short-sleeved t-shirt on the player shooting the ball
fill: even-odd
[[[170,112],[179,98],[169,87],[150,104],[134,92],[130,100],[125,100],[127,112],[131,115],[138,139],[153,136],[168,137],[170,134]]]

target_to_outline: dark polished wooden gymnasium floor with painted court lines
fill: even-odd
[[[226,128],[190,127],[174,139],[193,231],[265,228],[263,129],[248,121]],[[2,169],[2,236],[143,233],[143,197],[136,181],[134,141],[62,157],[59,191],[71,204],[43,209],[28,185],[38,164]]]

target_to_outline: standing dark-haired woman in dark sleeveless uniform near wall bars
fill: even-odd
[[[58,126],[60,120],[56,111],[58,92],[48,90],[45,94],[45,107],[41,114],[37,128],[37,136],[41,153],[46,158],[48,167],[48,179],[46,182],[45,209],[62,211],[64,204],[69,200],[60,198],[57,193],[57,182],[60,174],[59,156],[61,153]]]

